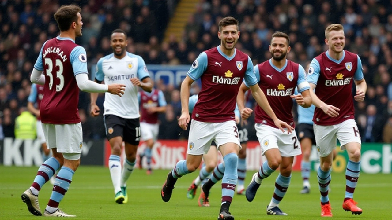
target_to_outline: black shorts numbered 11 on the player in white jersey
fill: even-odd
[[[108,140],[121,136],[124,142],[139,145],[140,120],[139,118],[125,119],[117,115],[104,115],[106,137]]]

